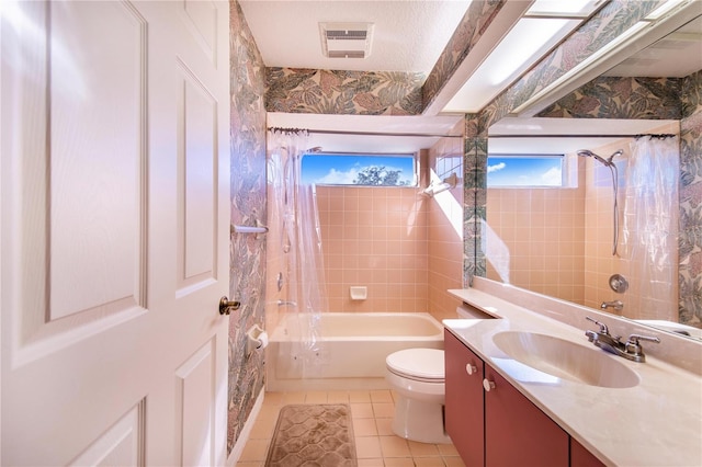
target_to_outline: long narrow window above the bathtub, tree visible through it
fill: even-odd
[[[327,185],[415,186],[414,155],[315,152],[303,157],[304,183]]]

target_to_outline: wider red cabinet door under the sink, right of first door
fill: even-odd
[[[486,466],[568,466],[568,434],[489,365],[485,378]]]

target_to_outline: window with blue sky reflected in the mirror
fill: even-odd
[[[489,155],[488,187],[565,186],[563,155]]]

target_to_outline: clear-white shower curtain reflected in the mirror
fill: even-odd
[[[678,322],[679,145],[672,136],[642,136],[631,145],[622,232],[631,318]]]

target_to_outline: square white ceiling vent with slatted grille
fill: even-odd
[[[365,58],[371,55],[373,23],[319,23],[321,49],[329,58]]]

